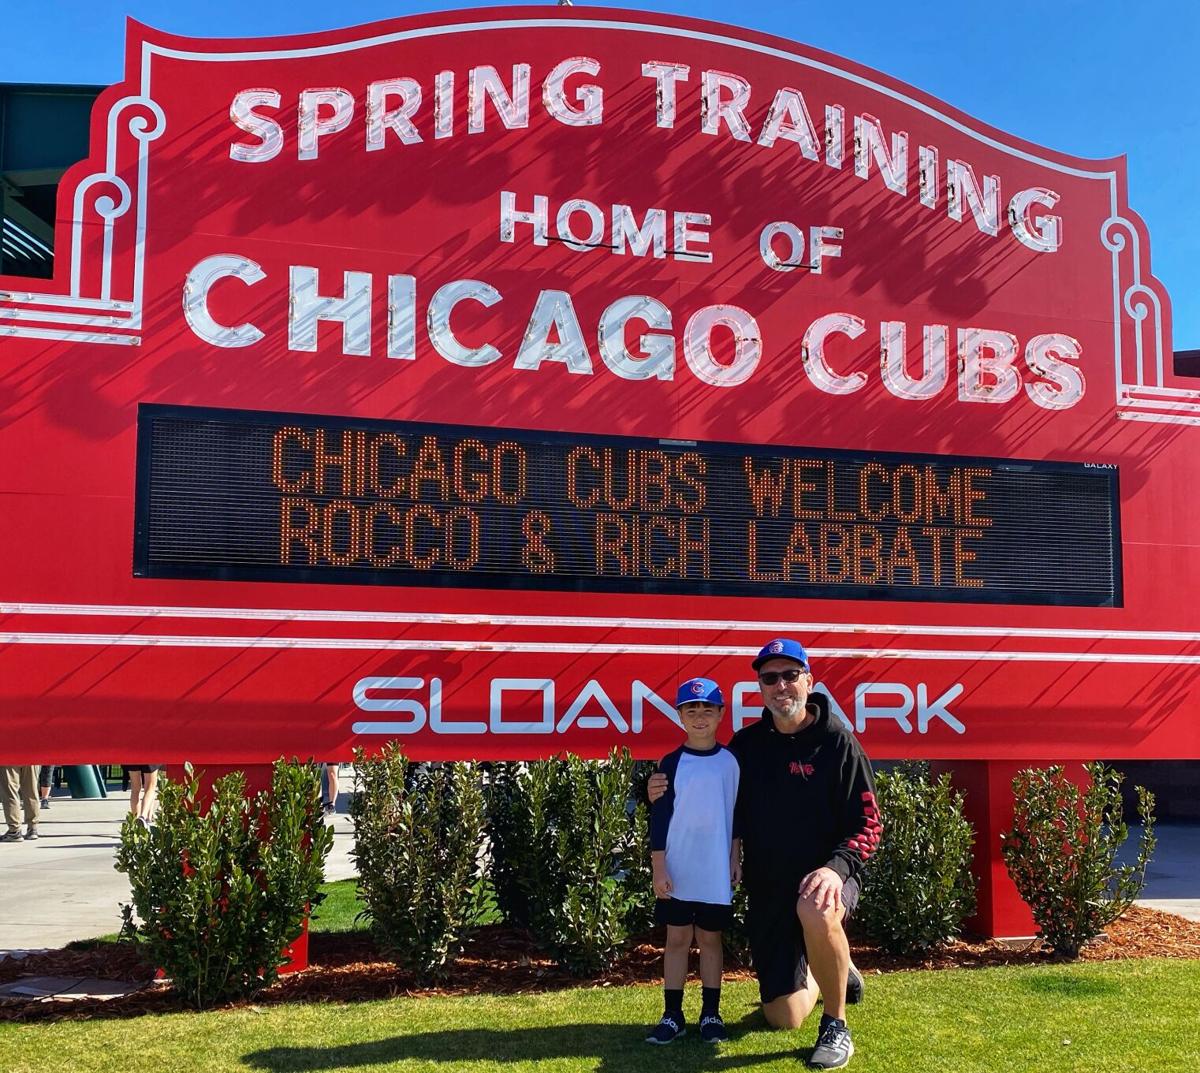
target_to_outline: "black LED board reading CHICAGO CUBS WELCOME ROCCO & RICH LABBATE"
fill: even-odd
[[[1120,603],[1116,473],[144,407],[134,573]]]

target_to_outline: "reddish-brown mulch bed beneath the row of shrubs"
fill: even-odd
[[[883,953],[854,936],[852,947],[854,964],[868,973],[1064,961],[1038,941],[1021,946],[995,940],[959,941],[925,955],[910,958]],[[526,933],[504,927],[482,929],[436,988],[420,987],[390,961],[380,960],[374,943],[362,933],[312,935],[308,955],[307,970],[282,977],[252,1000],[239,1005],[262,1007],[298,1001],[358,1002],[397,995],[517,995],[580,985],[610,988],[635,983],[653,984],[661,979],[662,973],[661,947],[648,939],[626,951],[608,972],[590,981],[580,981],[538,954]],[[1104,936],[1088,943],[1080,955],[1084,961],[1121,958],[1200,959],[1200,923],[1134,906],[1112,923]],[[50,951],[20,961],[0,961],[0,983],[30,975],[148,981],[152,972],[127,943]],[[751,977],[746,961],[727,959],[726,979]],[[134,995],[110,1001],[7,1001],[0,1003],[0,1021],[126,1018],[179,1008],[179,999],[170,987],[155,983]]]

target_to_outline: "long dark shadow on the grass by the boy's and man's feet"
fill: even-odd
[[[758,1021],[761,1026],[761,1021]],[[764,1030],[766,1031],[766,1030]],[[742,1032],[737,1032],[738,1038]],[[532,1029],[448,1029],[392,1036],[367,1043],[340,1047],[272,1047],[242,1057],[254,1069],[283,1071],[338,1069],[355,1066],[383,1066],[390,1062],[535,1062],[553,1059],[592,1060],[588,1068],[602,1073],[647,1073],[648,1069],[742,1069],[786,1057],[805,1057],[786,1045],[768,1054],[732,1055],[688,1037],[668,1047],[643,1042],[644,1030],[634,1025],[546,1025]]]

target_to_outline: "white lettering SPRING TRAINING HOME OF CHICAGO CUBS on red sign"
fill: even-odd
[[[694,71],[679,62],[648,60],[641,76],[648,130],[679,128],[680,102],[692,95],[700,104],[692,133],[701,145],[720,151],[726,140],[748,143],[764,163],[790,154],[794,174],[788,173],[786,181],[797,184],[797,194],[822,172],[845,170],[852,181],[877,187],[882,198],[895,198],[898,211],[907,211],[901,202],[911,203],[918,212],[972,228],[984,241],[1010,244],[1021,257],[1055,256],[1063,248],[1067,235],[1057,192],[1042,186],[1013,190],[1007,176],[982,174],[982,166],[950,157],[936,144],[910,144],[908,134],[884,119],[850,113],[838,101],[811,100],[794,86],[752,85],[737,73]],[[228,155],[239,168],[286,167],[289,175],[330,154],[344,156],[348,168],[374,162],[395,167],[385,162],[446,139],[446,151],[452,151],[460,137],[473,142],[535,127],[601,126],[605,90],[601,64],[587,56],[551,62],[536,72],[518,62],[511,70],[488,65],[444,70],[424,79],[391,72],[364,85],[311,86],[287,95],[272,88],[246,89],[236,91],[229,104]],[[769,101],[769,107],[761,121],[751,120],[760,100]],[[563,130],[563,137],[569,132]],[[749,238],[739,232],[738,241],[746,248],[731,251],[714,242],[725,222],[703,204],[613,203],[587,190],[552,199],[536,190],[500,188],[514,184],[511,176],[498,176],[494,194],[476,211],[486,214],[499,248],[504,244],[553,247],[541,254],[545,264],[539,269],[547,286],[533,296],[518,299],[493,281],[469,275],[449,281],[418,276],[404,263],[388,271],[364,271],[353,263],[290,264],[283,271],[220,250],[197,260],[188,272],[185,319],[196,336],[215,347],[251,347],[269,330],[281,336],[286,330],[289,350],[313,353],[340,334],[343,356],[433,360],[466,368],[508,364],[515,373],[565,371],[632,382],[692,377],[709,388],[730,389],[754,377],[760,366],[788,364],[811,388],[830,395],[860,391],[875,377],[884,391],[906,401],[947,392],[966,403],[1026,398],[1044,409],[1063,410],[1084,396],[1081,344],[1048,324],[1018,336],[990,317],[907,323],[870,319],[846,304],[806,308],[786,337],[773,338],[754,308],[680,307],[665,300],[673,288],[658,296],[636,293],[641,288],[601,295],[599,316],[581,319],[577,295],[566,282],[576,275],[571,262],[577,258],[618,257],[614,270],[632,258],[716,266],[721,256],[714,251],[724,250],[726,257],[761,259],[773,272],[790,274],[788,283],[800,296],[806,281],[827,271],[830,259],[858,263],[871,256],[870,242],[836,218],[764,218]],[[461,235],[448,235],[443,248],[452,252],[460,241]],[[554,280],[556,271],[560,280]],[[936,254],[928,271],[937,272]],[[218,294],[224,299],[210,301]],[[222,312],[229,308],[229,295],[238,296],[234,307],[242,301],[247,312]],[[595,288],[589,288],[589,301],[595,296]],[[462,332],[451,326],[456,310],[475,316],[480,306],[494,311],[491,328]],[[460,312],[457,323],[462,319]],[[324,346],[323,322],[341,329],[326,335]],[[269,324],[280,326],[260,326]],[[520,343],[505,342],[515,338],[505,330],[514,324],[524,326]],[[919,366],[910,354],[918,348]],[[868,355],[875,366],[870,373],[862,371]],[[397,372],[403,367],[392,366]]]

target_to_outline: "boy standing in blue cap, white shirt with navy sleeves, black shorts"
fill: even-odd
[[[667,925],[667,940],[662,1019],[646,1042],[671,1043],[684,1033],[683,985],[695,935],[703,988],[700,1036],[720,1043],[730,1038],[720,1013],[721,933],[732,923],[733,886],[742,873],[742,846],[733,832],[738,762],[716,744],[725,699],[715,682],[684,682],[676,709],[688,741],[659,765],[670,789],[650,809],[654,919]]]

